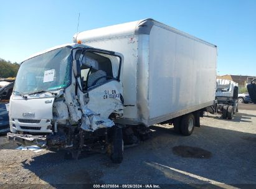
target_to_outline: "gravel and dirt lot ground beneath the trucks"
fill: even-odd
[[[206,114],[191,136],[175,134],[172,126],[153,126],[151,139],[125,149],[119,165],[104,154],[66,160],[64,152],[16,150],[16,145],[1,136],[0,188],[65,188],[64,183],[185,183],[192,188],[242,184],[237,188],[256,188],[256,104],[243,106],[232,121]]]

